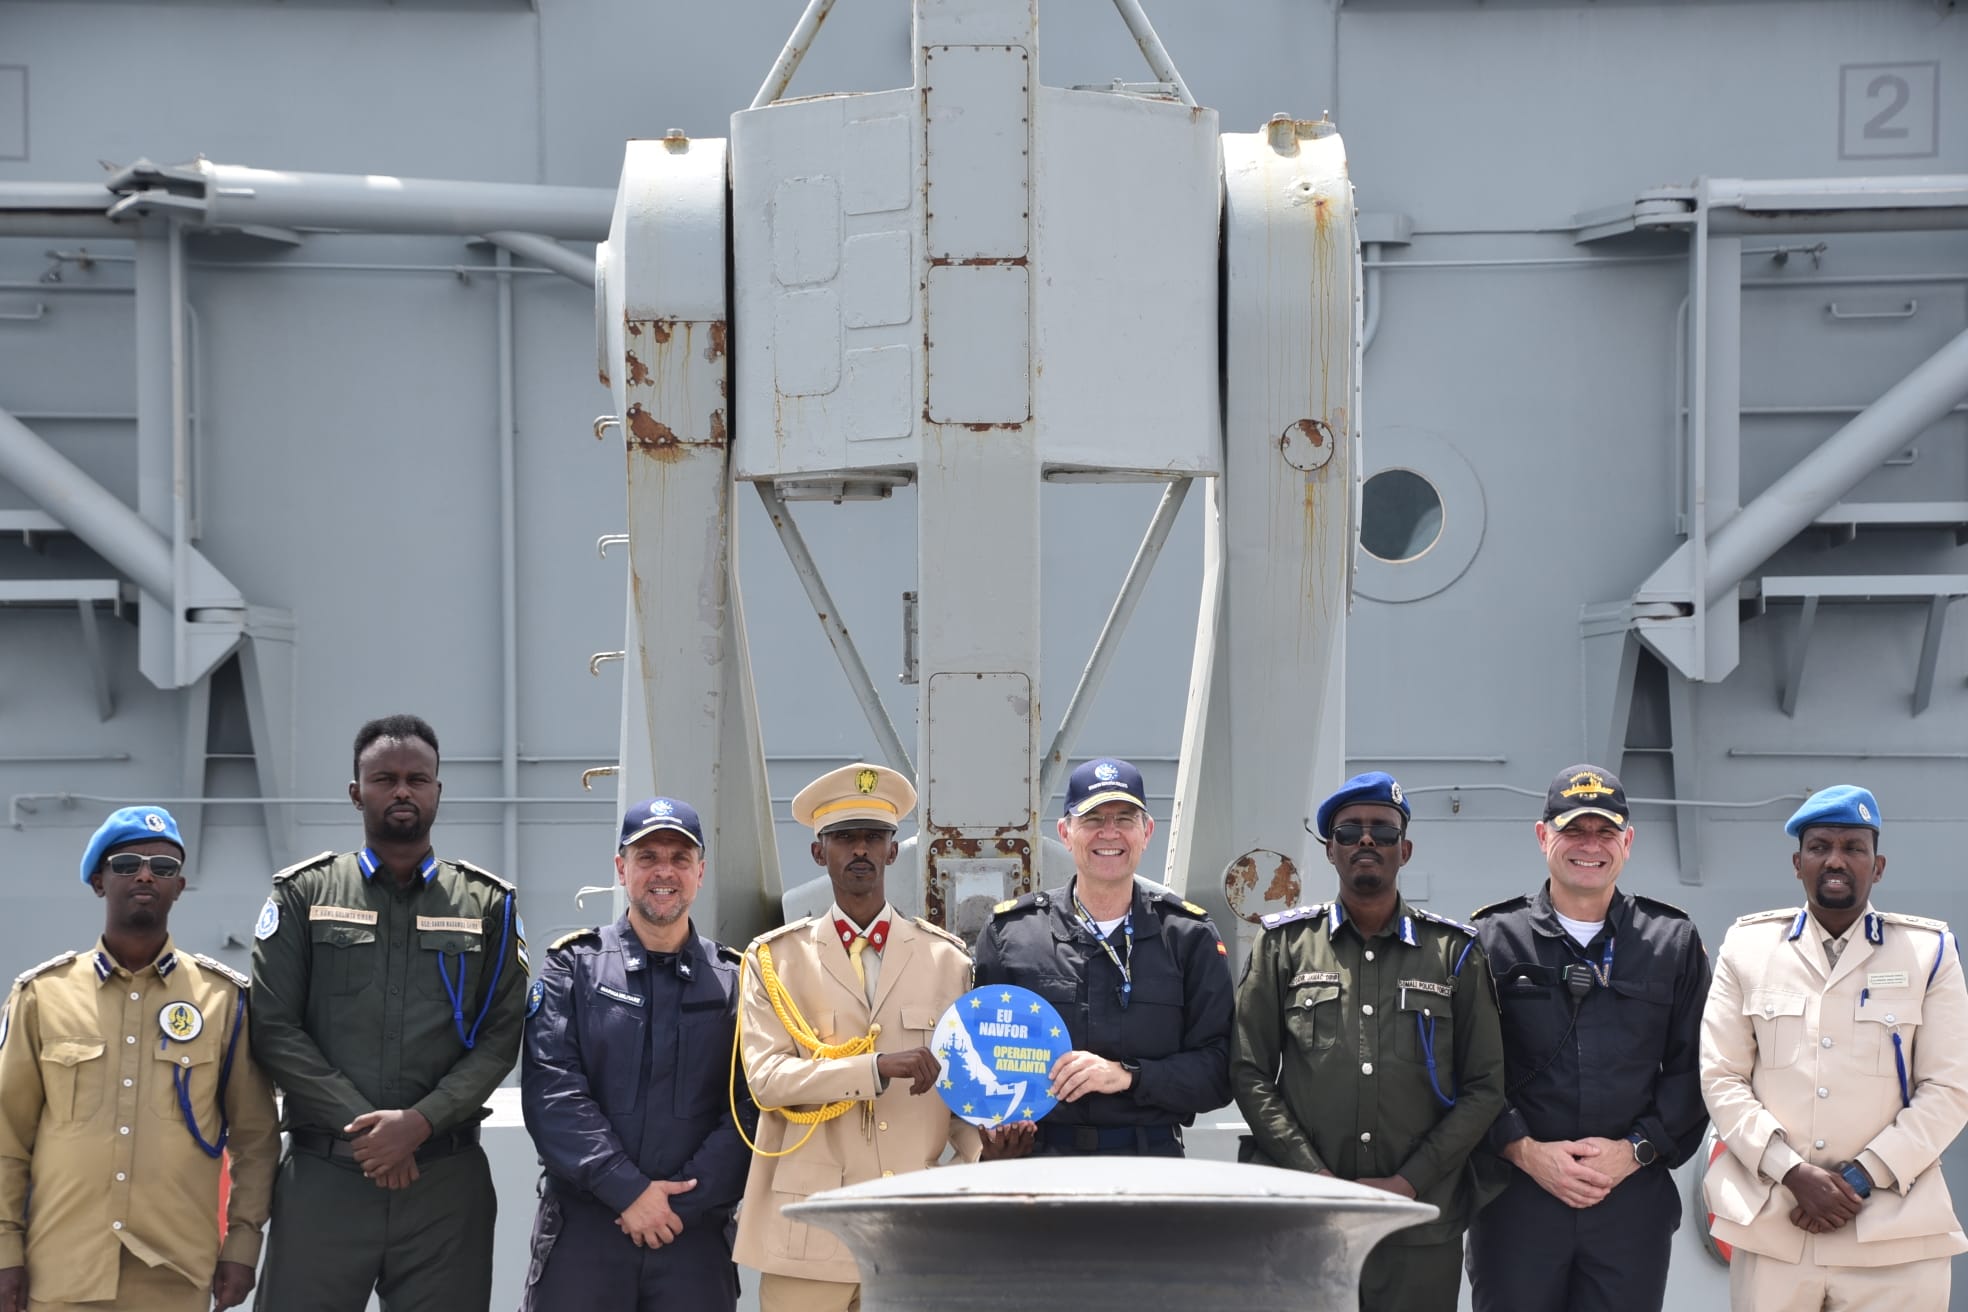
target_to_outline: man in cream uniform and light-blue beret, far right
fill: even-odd
[[[1832,785],[1791,816],[1803,907],[1736,921],[1702,1017],[1728,1153],[1702,1190],[1738,1312],[1940,1312],[1968,1237],[1940,1153],[1968,1123],[1968,989],[1940,921],[1876,911],[1879,803]]]

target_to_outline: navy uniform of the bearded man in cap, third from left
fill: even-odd
[[[691,934],[649,952],[624,915],[553,944],[527,993],[520,1094],[541,1178],[522,1312],[730,1310],[732,1212],[752,1153],[732,1125],[738,954]],[[746,1133],[758,1111],[738,1086]],[[616,1227],[651,1180],[683,1222],[653,1249]]]

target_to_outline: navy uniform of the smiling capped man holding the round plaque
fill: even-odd
[[[1134,887],[1134,946],[1116,928],[1134,985],[1073,915],[1073,891],[1002,903],[978,934],[976,982],[1015,984],[1059,1009],[1073,1046],[1138,1062],[1134,1088],[1063,1102],[1039,1123],[1039,1151],[1181,1157],[1179,1125],[1230,1102],[1230,1013],[1236,989],[1208,915],[1175,893]]]

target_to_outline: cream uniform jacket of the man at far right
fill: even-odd
[[[1868,909],[1836,968],[1801,909],[1736,921],[1702,1013],[1702,1100],[1728,1145],[1702,1184],[1716,1239],[1832,1267],[1968,1251],[1940,1178],[1968,1121],[1968,989],[1940,921]],[[1828,1235],[1791,1225],[1779,1180],[1799,1159],[1872,1170],[1858,1220]]]

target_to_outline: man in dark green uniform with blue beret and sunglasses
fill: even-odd
[[[1401,785],[1382,771],[1319,806],[1338,899],[1263,917],[1238,985],[1230,1082],[1254,1161],[1441,1210],[1368,1255],[1360,1306],[1454,1312],[1478,1202],[1468,1159],[1504,1109],[1504,1039],[1476,930],[1401,897],[1407,822]]]

